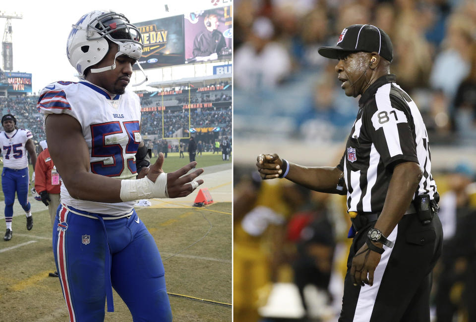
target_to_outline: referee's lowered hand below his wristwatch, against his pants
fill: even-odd
[[[379,253],[368,249],[366,244],[360,247],[352,260],[351,267],[351,279],[355,286],[373,285],[373,274],[380,262],[380,257]]]

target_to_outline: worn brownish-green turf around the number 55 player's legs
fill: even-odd
[[[136,210],[162,254],[168,292],[185,296],[170,297],[174,320],[231,321],[231,307],[190,299],[232,303],[231,203]],[[33,230],[27,231],[25,222],[23,216],[14,217],[12,240],[0,242],[1,320],[67,321],[60,282],[48,277],[55,271],[48,211],[34,214]],[[132,321],[115,291],[114,304],[115,312],[106,312],[105,321]]]

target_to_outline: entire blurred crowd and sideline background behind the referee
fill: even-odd
[[[272,146],[259,152],[315,159],[308,166],[338,163],[358,97],[345,96],[337,61],[317,49],[335,46],[347,26],[369,23],[392,39],[391,73],[416,101],[438,152],[432,172],[445,245],[431,320],[476,321],[476,1],[235,0],[237,322],[337,321],[351,243],[345,197],[261,181],[256,155],[243,154]]]

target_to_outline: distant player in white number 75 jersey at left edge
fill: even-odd
[[[30,154],[33,169],[36,163],[36,149],[33,143],[33,135],[29,130],[18,129],[16,119],[11,114],[5,114],[1,118],[3,127],[0,132],[1,154],[3,155],[3,170],[1,173],[1,188],[5,196],[5,223],[6,232],[3,240],[9,241],[13,235],[11,221],[13,219],[13,203],[15,193],[18,202],[26,213],[26,229],[33,228],[33,216],[31,205],[28,201],[28,186],[30,185],[30,173],[28,171],[28,156]]]

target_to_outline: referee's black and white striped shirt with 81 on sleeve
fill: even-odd
[[[381,212],[393,167],[406,161],[418,163],[423,172],[415,195],[428,193],[434,199],[428,134],[415,102],[395,83],[395,75],[377,79],[358,104],[356,122],[337,166],[347,184],[348,211]]]

